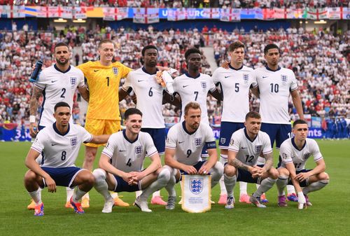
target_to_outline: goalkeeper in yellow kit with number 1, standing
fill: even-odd
[[[99,61],[86,62],[78,66],[84,73],[90,92],[87,107],[85,128],[88,132],[99,134],[113,134],[120,130],[119,112],[119,84],[120,78],[125,78],[132,70],[120,62],[112,62],[114,43],[109,39],[99,42]],[[92,171],[97,147],[101,145],[86,144],[83,168]],[[89,207],[89,195],[83,197],[83,207]],[[129,206],[118,197],[115,204]]]

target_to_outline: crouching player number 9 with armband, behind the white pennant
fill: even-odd
[[[201,122],[200,104],[190,102],[184,109],[184,121],[170,128],[165,145],[165,168],[170,170],[171,176],[166,187],[169,193],[166,209],[174,209],[176,202],[175,183],[180,174],[208,174],[211,173],[211,188],[223,175],[223,164],[218,162],[216,141],[213,130]],[[201,158],[202,148],[206,146],[209,153],[207,161]]]

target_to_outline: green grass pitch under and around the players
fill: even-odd
[[[23,186],[27,171],[24,160],[30,143],[0,143],[0,235],[350,235],[350,141],[318,141],[318,144],[330,184],[311,193],[309,198],[314,205],[302,211],[297,209],[296,202],[288,202],[285,208],[277,207],[274,186],[267,193],[266,209],[237,201],[235,209],[226,210],[214,204],[211,211],[203,214],[186,213],[180,205],[174,211],[166,211],[151,204],[152,213],[132,206],[114,207],[111,214],[102,214],[103,198],[92,190],[90,208],[85,209],[84,215],[78,215],[64,208],[66,191],[59,187],[55,194],[43,190],[45,216],[34,217],[33,211],[27,210],[29,196]],[[76,164],[82,163],[83,148]],[[314,167],[312,160],[308,167]],[[254,188],[249,184],[249,193]],[[179,195],[179,184],[176,189]],[[167,199],[165,190],[161,194]],[[236,200],[238,194],[236,186]],[[120,195],[126,202],[134,202],[134,193]],[[218,195],[219,186],[216,186],[212,192],[216,202]]]

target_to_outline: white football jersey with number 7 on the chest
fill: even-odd
[[[202,122],[209,124],[207,96],[209,91],[216,90],[213,79],[207,74],[199,74],[193,78],[186,73],[174,78],[173,87],[181,97],[181,121],[185,115],[185,106],[189,102],[198,102],[202,111]]]

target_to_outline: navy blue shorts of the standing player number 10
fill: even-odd
[[[283,141],[290,138],[292,125],[262,123],[260,130],[269,134],[272,148],[274,141],[276,141],[276,148],[279,148]]]

